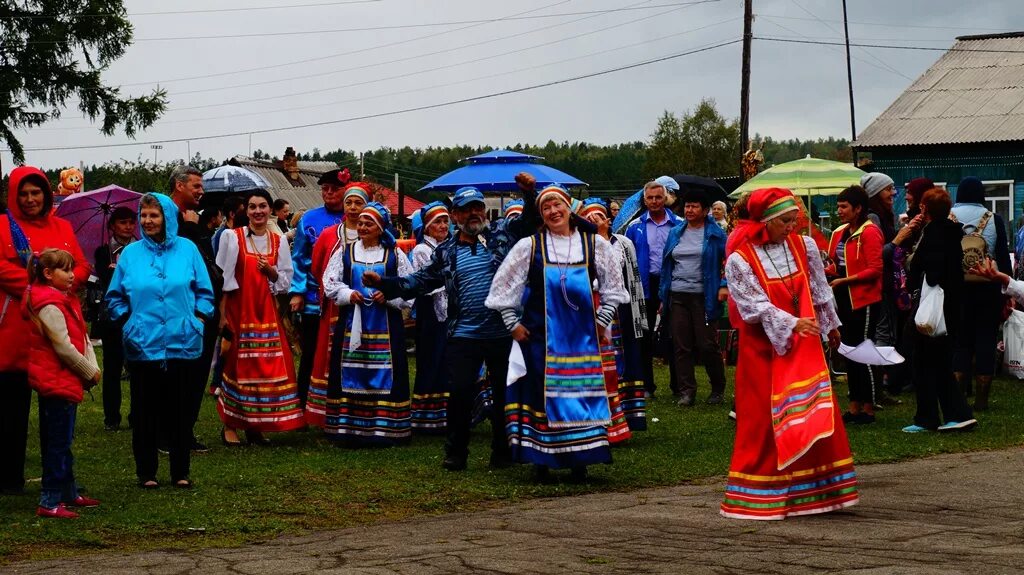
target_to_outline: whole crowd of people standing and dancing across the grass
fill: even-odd
[[[528,173],[516,183],[521,200],[496,221],[475,187],[426,205],[407,254],[388,209],[347,170],[323,174],[323,206],[293,216],[265,190],[201,210],[202,174],[182,166],[169,194],[110,215],[90,270],[52,213],[45,175],[15,169],[0,217],[0,488],[24,489],[36,390],[37,515],[98,505],[73,470],[76,405],[101,382],[104,426],[120,429],[123,367],[142,489],[161,486],[161,450],[170,485],[193,487],[190,455],[207,449],[194,430],[211,393],[229,447],[310,426],[350,448],[442,433],[441,465],[460,472],[472,426],[489,418],[490,467],[582,481],[646,430],[655,357],[681,408],[698,400],[697,363],[703,400],[726,403],[724,324],[741,345],[721,513],[741,519],[855,503],[846,426],[873,423],[892,396],[914,390],[907,433],[970,429],[973,409],[987,406],[1004,294],[1024,288],[1009,276],[1005,222],[975,178],[961,182],[955,205],[915,179],[897,215],[893,180],[866,174],[839,194],[842,225],[826,247],[797,233],[806,208],[781,188],[743,196],[729,216],[708,192],[663,176],[616,234],[617,203],[538,189]],[[945,295],[941,334],[915,328],[921,292],[933,286]],[[102,369],[90,335],[102,340]],[[884,369],[848,360],[843,411],[829,356],[865,340],[907,360]]]

